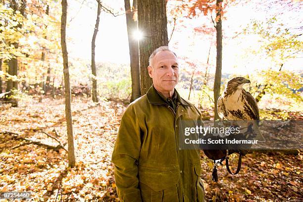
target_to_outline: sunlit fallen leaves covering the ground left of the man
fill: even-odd
[[[51,99],[44,102],[21,103],[17,108],[1,106],[4,109],[0,111],[1,191],[3,187],[7,191],[31,191],[34,201],[52,201],[56,197],[63,201],[115,201],[110,156],[124,107],[117,107],[115,102],[95,104],[82,98],[73,99],[77,163],[65,170],[67,153],[64,150],[55,152],[37,145],[21,145],[22,141],[3,133],[10,131],[55,146],[54,139],[39,132],[45,131],[66,143],[64,102]],[[18,147],[11,149],[15,146]]]

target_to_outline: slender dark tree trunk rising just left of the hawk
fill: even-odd
[[[213,86],[213,97],[214,97],[214,120],[219,119],[217,111],[217,101],[220,97],[220,87],[221,87],[221,71],[222,71],[222,20],[221,20],[221,9],[222,9],[222,0],[216,1],[216,16],[219,17],[219,20],[216,24],[217,31],[217,59],[216,59],[216,73]]]

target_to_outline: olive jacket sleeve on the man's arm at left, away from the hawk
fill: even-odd
[[[138,166],[140,126],[132,105],[124,112],[112,153],[117,193],[122,202],[141,202]]]

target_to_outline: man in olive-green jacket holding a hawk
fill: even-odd
[[[148,70],[153,85],[126,108],[112,154],[120,201],[203,202],[200,152],[179,145],[182,121],[201,114],[175,90],[176,54],[159,47]]]

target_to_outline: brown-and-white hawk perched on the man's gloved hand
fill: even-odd
[[[253,126],[255,132],[259,132],[255,121],[250,121],[260,119],[258,105],[252,94],[243,89],[243,85],[250,83],[251,81],[244,77],[235,77],[228,81],[225,91],[217,101],[217,111],[221,119],[234,120],[233,122],[246,120],[240,121],[242,130]]]

